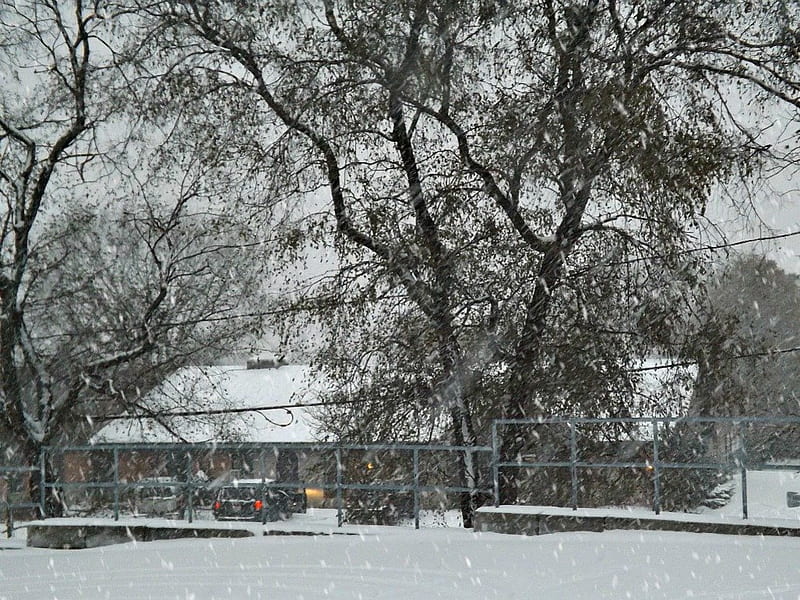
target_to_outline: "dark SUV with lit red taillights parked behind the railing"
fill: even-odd
[[[304,493],[264,487],[261,480],[231,482],[220,488],[213,505],[214,518],[220,521],[277,521],[305,510]]]

